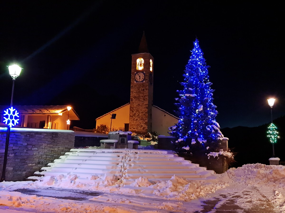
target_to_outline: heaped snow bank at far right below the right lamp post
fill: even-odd
[[[226,174],[233,182],[285,189],[285,166],[282,165],[246,164],[230,168]]]

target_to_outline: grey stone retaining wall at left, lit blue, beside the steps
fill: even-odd
[[[18,129],[18,128],[17,128]],[[0,131],[2,176],[6,131]],[[22,181],[74,148],[74,131],[11,129],[5,181]]]

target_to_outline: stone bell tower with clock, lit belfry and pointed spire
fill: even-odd
[[[153,57],[143,37],[137,54],[132,55],[130,124],[131,132],[144,134],[152,131]]]

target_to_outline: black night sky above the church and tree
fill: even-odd
[[[1,1],[0,105],[10,103],[6,66],[16,62],[14,105],[71,104],[81,119],[71,126],[95,128],[129,102],[131,54],[145,31],[154,105],[173,113],[197,37],[221,128],[259,126],[270,121],[270,96],[273,118],[285,114],[284,14],[260,2]]]

